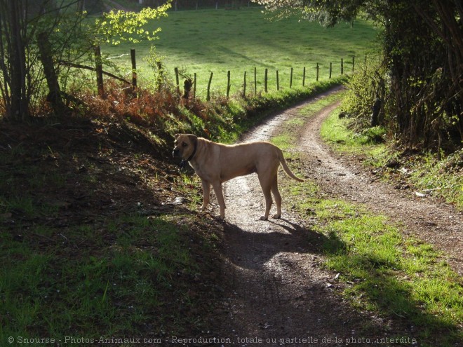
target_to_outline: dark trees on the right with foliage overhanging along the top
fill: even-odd
[[[461,0],[258,1],[277,17],[298,13],[332,26],[365,13],[381,23],[386,125],[410,146],[462,145]]]

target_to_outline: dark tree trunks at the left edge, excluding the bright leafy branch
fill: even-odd
[[[44,79],[48,101],[57,113],[63,111],[55,61],[86,42],[79,32],[85,13],[75,11],[77,3],[0,0],[0,111],[6,118],[29,118]]]

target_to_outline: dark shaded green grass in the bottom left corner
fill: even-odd
[[[96,224],[1,234],[0,341],[8,336],[64,341],[79,332],[93,339],[123,336],[147,321],[156,326],[154,333],[163,329],[164,318],[153,313],[173,299],[173,278],[193,277],[196,270],[180,247],[185,230],[169,217],[124,216]],[[179,299],[190,306],[184,293]],[[184,325],[180,312],[172,314],[178,327]]]

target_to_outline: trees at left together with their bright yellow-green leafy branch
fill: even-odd
[[[62,69],[93,60],[102,41],[155,39],[159,29],[148,32],[144,25],[169,7],[170,0],[140,13],[110,11],[92,23],[83,0],[0,0],[0,113],[26,121],[44,94],[55,114],[65,113],[63,98],[72,96],[60,88]]]

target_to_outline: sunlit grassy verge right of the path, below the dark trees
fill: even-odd
[[[340,119],[338,113],[333,112],[321,130],[323,138],[335,149],[362,154],[365,163],[376,168],[385,179],[408,182],[415,190],[463,210],[463,150],[443,156],[391,148],[383,142],[383,128],[354,132],[348,129],[350,120]]]

